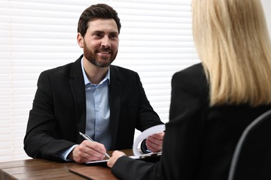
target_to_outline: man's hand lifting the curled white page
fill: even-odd
[[[146,140],[146,145],[148,150],[151,152],[161,152],[163,149],[163,139],[165,136],[165,132],[152,134],[151,136],[148,136]]]

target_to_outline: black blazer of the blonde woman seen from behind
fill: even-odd
[[[170,122],[158,163],[120,157],[112,168],[120,179],[227,179],[238,138],[269,106],[208,107],[208,84],[202,64],[172,77]]]

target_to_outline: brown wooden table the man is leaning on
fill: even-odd
[[[132,150],[122,150],[128,156]],[[111,156],[112,152],[108,152]],[[69,168],[79,168],[88,165],[74,162],[58,163],[44,159],[26,159],[0,163],[0,179],[85,179],[69,172]]]

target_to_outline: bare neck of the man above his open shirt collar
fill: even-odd
[[[109,68],[109,66],[107,67],[95,66],[95,64],[92,64],[85,58],[83,58],[83,67],[85,69],[85,74],[87,75],[88,80],[90,80],[92,84],[99,84],[99,82],[101,82],[101,80],[103,80],[104,77],[106,76],[106,73]]]

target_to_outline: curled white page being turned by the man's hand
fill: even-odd
[[[144,132],[142,132],[138,138],[136,138],[136,141],[133,143],[133,155],[136,157],[142,156],[140,152],[138,152],[138,144],[143,141],[148,136],[151,136],[152,134],[160,133],[165,131],[165,125],[156,125],[154,127],[150,127],[149,129],[146,129]]]

